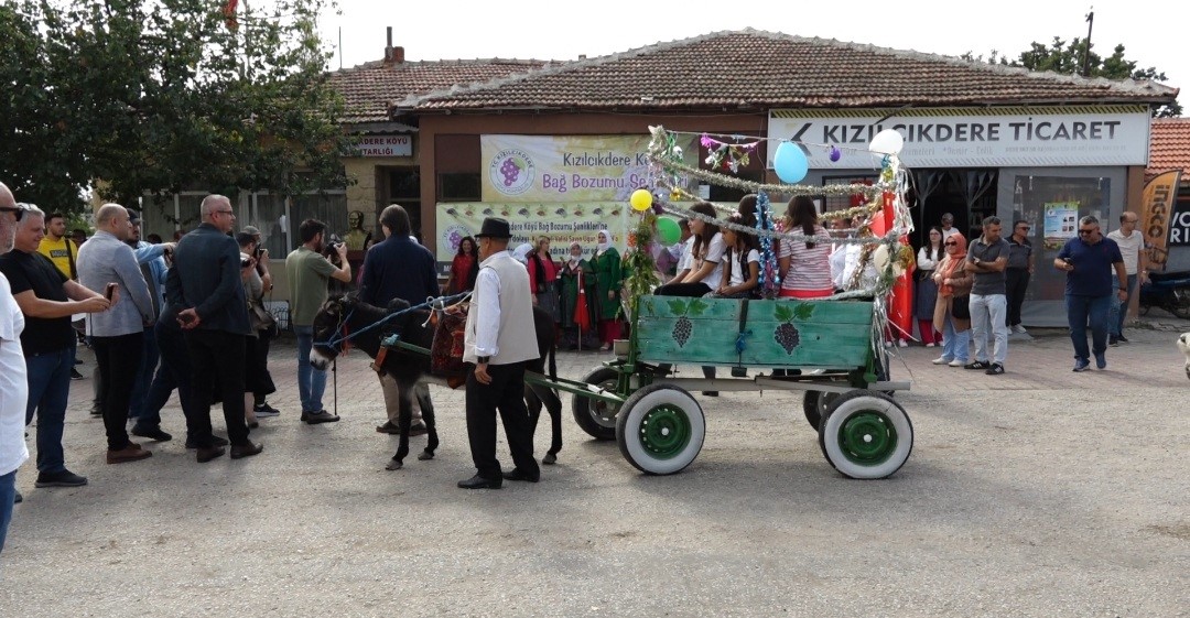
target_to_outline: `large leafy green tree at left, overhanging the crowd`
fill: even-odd
[[[58,208],[90,182],[123,202],[342,187],[350,143],[317,31],[325,2],[242,7],[238,27],[211,0],[0,7],[0,26],[17,33],[0,37],[0,87],[13,93],[0,126],[15,137],[0,145],[0,177]]]

